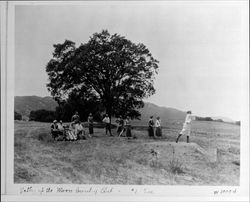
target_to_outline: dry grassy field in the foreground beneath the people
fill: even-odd
[[[95,129],[94,137],[75,142],[54,142],[49,126],[15,122],[15,183],[239,185],[236,125],[195,121],[189,144],[185,136],[175,143],[181,124],[165,125],[163,138],[156,140],[135,127],[137,139],[107,137],[104,129]]]

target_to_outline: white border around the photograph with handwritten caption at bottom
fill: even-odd
[[[248,201],[249,200],[249,67],[245,68],[241,82],[246,86],[242,96],[241,141],[240,141],[240,186],[144,186],[144,185],[55,185],[55,184],[14,184],[14,81],[15,81],[15,7],[20,5],[107,5],[107,4],[219,4],[239,6],[242,9],[242,37],[249,37],[248,1],[32,1],[1,2],[1,198],[3,201]],[[249,48],[246,43],[246,54]],[[249,64],[249,58],[247,59]],[[32,192],[21,194],[22,189],[42,187],[57,190],[58,187],[73,189],[90,187],[97,190],[85,194],[58,194]],[[112,193],[101,190],[113,189]],[[137,193],[135,193],[135,190]],[[145,190],[152,193],[145,193]],[[236,193],[214,195],[216,190],[236,190]],[[42,196],[41,196],[42,195]]]

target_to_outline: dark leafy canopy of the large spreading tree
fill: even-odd
[[[102,105],[109,116],[138,118],[143,98],[155,93],[158,61],[142,43],[103,30],[79,47],[70,40],[55,44],[46,72],[59,104],[79,96]]]

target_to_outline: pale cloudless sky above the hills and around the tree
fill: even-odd
[[[103,29],[143,43],[159,61],[145,101],[199,116],[240,120],[248,52],[242,6],[102,2],[15,8],[15,95],[50,96],[45,67],[53,44],[80,43]]]

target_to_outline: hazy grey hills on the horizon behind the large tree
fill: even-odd
[[[15,96],[15,111],[20,113],[24,119],[29,117],[32,110],[46,109],[55,110],[57,103],[52,97],[39,97],[39,96]],[[178,122],[183,121],[185,118],[185,112],[160,107],[152,103],[146,102],[144,107],[140,109],[142,114],[141,120],[133,121],[134,124],[147,124],[149,117],[152,115],[155,118],[161,117],[164,122]]]

